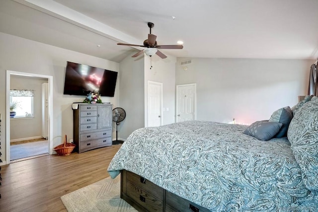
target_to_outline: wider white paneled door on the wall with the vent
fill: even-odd
[[[196,84],[177,85],[176,122],[196,120]]]

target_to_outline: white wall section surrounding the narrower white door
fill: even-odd
[[[168,56],[161,59],[157,55],[145,56],[145,126],[148,126],[148,81],[162,83],[162,124],[175,122],[175,64],[176,58]]]

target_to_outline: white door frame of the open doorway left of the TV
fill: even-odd
[[[53,154],[53,76],[18,71],[6,71],[6,110],[5,110],[5,164],[10,163],[10,79],[11,75],[40,77],[48,79],[48,152]]]

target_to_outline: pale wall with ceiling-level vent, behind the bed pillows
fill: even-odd
[[[251,124],[269,119],[306,95],[311,60],[192,58],[184,71],[179,58],[176,84],[197,84],[197,120]]]

